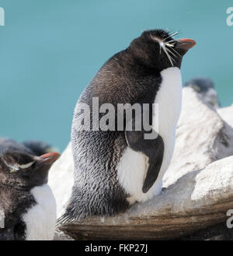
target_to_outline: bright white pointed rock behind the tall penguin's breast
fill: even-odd
[[[233,129],[191,88],[183,89],[183,107],[176,131],[172,163],[164,187],[193,170],[233,155]]]

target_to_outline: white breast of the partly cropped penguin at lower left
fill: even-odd
[[[47,184],[31,190],[37,205],[23,216],[26,240],[53,240],[56,226],[56,202]]]

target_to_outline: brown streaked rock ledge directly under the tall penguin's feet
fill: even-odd
[[[104,223],[93,216],[61,230],[76,240],[167,240],[224,223],[228,209],[233,209],[233,156],[184,175],[162,195]]]

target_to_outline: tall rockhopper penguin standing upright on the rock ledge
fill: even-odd
[[[106,61],[80,96],[71,128],[75,185],[61,222],[111,216],[161,192],[181,110],[180,66],[183,55],[196,44],[191,39],[175,40],[175,34],[144,31],[126,50]],[[148,103],[151,132],[158,125],[158,137],[144,139],[148,133],[144,128],[127,131],[125,120],[123,131],[96,131],[92,126],[83,131],[79,127],[83,116],[80,106],[85,103],[90,107],[92,119],[94,97],[99,106],[111,103],[115,109],[119,103]],[[153,103],[158,104],[158,124]],[[99,113],[99,120],[102,117]]]

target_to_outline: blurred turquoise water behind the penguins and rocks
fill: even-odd
[[[197,42],[184,58],[183,81],[208,76],[222,106],[233,102],[230,0],[2,0],[0,6],[0,135],[64,149],[75,103],[92,76],[144,29],[158,27]]]

